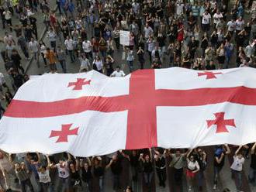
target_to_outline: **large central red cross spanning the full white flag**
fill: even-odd
[[[130,76],[129,94],[115,97],[85,96],[51,102],[14,99],[5,116],[43,118],[71,115],[87,110],[127,110],[126,149],[143,149],[157,146],[157,107],[199,106],[223,102],[256,105],[256,89],[244,86],[189,90],[156,89],[154,70],[137,70]]]

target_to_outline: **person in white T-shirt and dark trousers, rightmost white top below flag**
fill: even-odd
[[[232,173],[232,178],[237,180],[236,186],[237,190],[241,191],[242,188],[242,170],[243,170],[243,165],[244,165],[244,156],[242,153],[240,153],[240,149],[243,146],[239,146],[237,151],[234,154],[234,162],[230,166],[231,173]]]

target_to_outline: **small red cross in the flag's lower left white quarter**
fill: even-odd
[[[79,127],[71,129],[71,126],[72,124],[61,125],[61,131],[52,130],[49,138],[59,137],[56,142],[67,142],[68,135],[78,135]]]

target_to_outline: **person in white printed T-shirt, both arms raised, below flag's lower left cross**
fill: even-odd
[[[68,162],[71,161],[71,155],[67,153],[67,160],[60,159],[59,163],[54,165],[53,163],[50,163],[50,158],[47,156],[47,162],[50,166],[50,169],[57,169],[59,178],[61,179],[61,182],[59,183],[59,186],[57,187],[57,191],[70,191],[71,189],[71,180],[70,180],[70,173],[68,169]],[[62,186],[62,190],[60,189]]]

